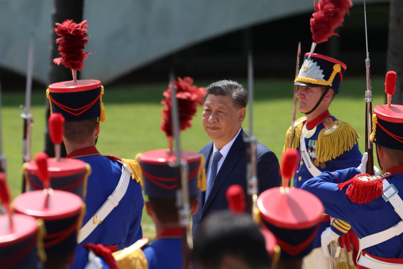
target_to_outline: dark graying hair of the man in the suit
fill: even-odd
[[[211,83],[206,87],[207,94],[203,96],[203,102],[206,102],[206,98],[209,94],[215,96],[231,96],[232,104],[236,108],[246,107],[248,103],[248,93],[242,84],[232,80],[220,80]]]

